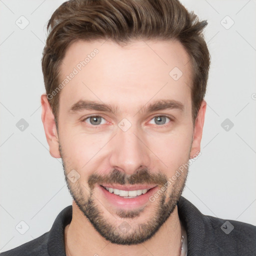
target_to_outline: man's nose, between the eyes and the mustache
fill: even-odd
[[[111,148],[109,161],[112,168],[132,174],[150,166],[150,150],[145,136],[133,125],[127,131],[117,127],[117,133],[111,139]]]

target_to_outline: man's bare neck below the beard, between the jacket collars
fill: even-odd
[[[103,238],[72,203],[72,220],[65,227],[64,241],[66,256],[78,255],[141,255],[179,256],[181,246],[181,224],[177,206],[159,230],[148,240],[135,245],[119,245]]]

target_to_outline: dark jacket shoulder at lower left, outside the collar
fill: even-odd
[[[49,232],[46,232],[31,241],[28,241],[13,249],[0,253],[0,256],[48,256],[48,236]]]

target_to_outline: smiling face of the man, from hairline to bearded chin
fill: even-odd
[[[65,79],[58,132],[46,136],[75,203],[112,243],[147,240],[173,212],[187,169],[172,176],[200,149],[205,107],[193,127],[187,53],[177,41],[77,41]]]

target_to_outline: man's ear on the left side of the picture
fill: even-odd
[[[52,113],[46,94],[41,95],[41,105],[42,105],[41,118],[42,118],[46,139],[49,145],[50,155],[55,158],[60,158],[60,153],[58,150],[58,134],[57,134],[56,124],[55,124],[54,115]]]

